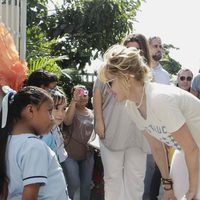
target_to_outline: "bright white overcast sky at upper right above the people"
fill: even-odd
[[[146,0],[137,12],[134,28],[137,33],[159,36],[165,44],[179,50],[170,56],[182,68],[194,74],[200,69],[200,1],[199,0]]]

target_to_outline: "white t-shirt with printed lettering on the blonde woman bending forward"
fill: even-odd
[[[136,105],[127,101],[127,111],[139,129],[161,140],[168,146],[180,149],[171,133],[187,124],[200,147],[200,100],[175,86],[146,83],[147,118],[144,119]]]

